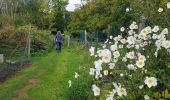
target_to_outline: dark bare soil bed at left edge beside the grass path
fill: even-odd
[[[22,62],[16,62],[14,64],[1,64],[0,65],[0,83],[4,82],[8,78],[10,78],[12,75],[17,73],[18,71],[24,69],[25,67],[28,67],[30,64],[30,61],[22,61]]]

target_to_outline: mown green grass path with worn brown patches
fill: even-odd
[[[82,52],[68,48],[34,57],[30,67],[0,84],[0,100],[66,100],[67,82],[84,59]]]

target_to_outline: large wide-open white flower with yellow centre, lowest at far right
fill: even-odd
[[[157,79],[155,77],[146,77],[144,82],[149,88],[157,86]]]

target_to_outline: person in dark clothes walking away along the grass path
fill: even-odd
[[[56,41],[56,50],[57,50],[57,52],[61,52],[61,47],[62,47],[63,42],[64,42],[64,36],[61,34],[61,31],[57,32],[55,41]]]

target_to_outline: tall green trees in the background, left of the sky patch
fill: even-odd
[[[1,0],[0,23],[15,26],[32,23],[42,29],[63,28],[67,3],[67,0]]]

